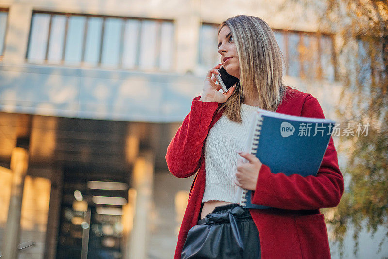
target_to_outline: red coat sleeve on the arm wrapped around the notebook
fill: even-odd
[[[302,107],[301,116],[325,118],[318,100],[310,96]],[[271,173],[262,165],[252,202],[282,209],[319,209],[336,207],[344,190],[343,176],[339,170],[337,151],[330,137],[317,176],[290,176]]]

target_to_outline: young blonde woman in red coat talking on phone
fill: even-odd
[[[320,104],[311,94],[282,84],[281,52],[260,18],[239,15],[224,21],[218,52],[221,64],[208,71],[202,95],[194,98],[167,149],[171,173],[180,178],[197,173],[174,258],[330,258],[319,209],[337,206],[344,189],[333,139],[317,176],[273,174],[240,151],[258,107],[324,118]],[[226,93],[212,78],[221,65],[240,79]],[[242,208],[235,200],[237,186],[255,191],[253,203],[273,208]]]

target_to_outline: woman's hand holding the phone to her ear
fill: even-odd
[[[213,67],[208,71],[206,74],[206,78],[203,85],[203,92],[201,95],[201,98],[199,99],[202,102],[218,102],[218,103],[225,103],[226,100],[232,95],[235,86],[232,86],[229,88],[229,90],[226,93],[221,93],[219,90],[221,89],[221,86],[216,84],[216,79],[211,78],[212,74],[220,74],[217,69],[221,67],[222,64],[218,64],[217,66]]]

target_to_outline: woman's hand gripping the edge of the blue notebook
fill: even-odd
[[[246,190],[256,190],[259,170],[262,165],[260,160],[248,152],[237,151],[237,153],[248,160],[248,162],[243,162],[242,158],[237,161],[236,180],[234,183]]]

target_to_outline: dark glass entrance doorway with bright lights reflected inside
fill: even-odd
[[[122,258],[129,178],[109,169],[65,170],[57,259]]]

